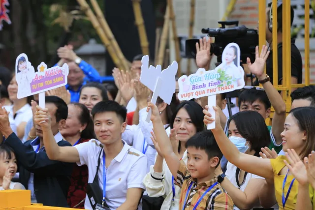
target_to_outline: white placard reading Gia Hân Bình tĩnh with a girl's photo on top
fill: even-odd
[[[183,101],[208,96],[209,112],[215,119],[212,107],[216,106],[216,94],[239,90],[245,86],[240,56],[239,46],[229,43],[223,50],[222,63],[214,70],[199,68],[194,74],[181,76],[178,80],[178,99]],[[215,123],[209,124],[208,129],[214,126]]]

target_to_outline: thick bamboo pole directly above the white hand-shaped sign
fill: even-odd
[[[148,42],[147,32],[146,32],[146,28],[145,28],[144,20],[142,16],[140,1],[141,0],[132,0],[132,7],[133,7],[135,23],[136,23],[136,26],[138,27],[142,54],[149,55],[150,54],[149,42]]]

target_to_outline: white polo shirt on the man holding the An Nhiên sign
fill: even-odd
[[[78,166],[87,165],[89,169],[88,183],[92,183],[96,174],[99,152],[101,160],[98,169],[99,187],[103,191],[103,148],[95,139],[74,146],[80,156]],[[129,188],[142,188],[142,180],[146,175],[147,158],[141,152],[133,149],[124,142],[124,148],[111,161],[106,169],[106,203],[111,210],[120,207],[126,201],[126,193]],[[85,199],[84,208],[92,210],[88,196]],[[142,203],[138,206],[142,210]]]

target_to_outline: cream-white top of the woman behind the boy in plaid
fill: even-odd
[[[187,150],[183,154],[182,160],[187,164]],[[146,192],[150,197],[163,196],[165,199],[161,206],[161,210],[178,210],[179,200],[181,195],[181,188],[175,185],[175,197],[174,205],[173,200],[173,189],[172,189],[172,173],[169,170],[165,159],[163,160],[163,170],[161,173],[157,173],[153,169],[154,166],[150,167],[150,172],[145,176],[143,184],[146,187]]]

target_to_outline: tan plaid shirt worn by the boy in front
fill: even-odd
[[[175,184],[182,188],[179,209],[192,210],[203,193],[215,182],[217,178],[197,184],[190,176],[187,166],[181,163],[177,173]],[[192,182],[187,201],[185,197],[190,183]],[[204,195],[196,210],[233,210],[233,201],[228,196],[221,185],[217,183]]]

